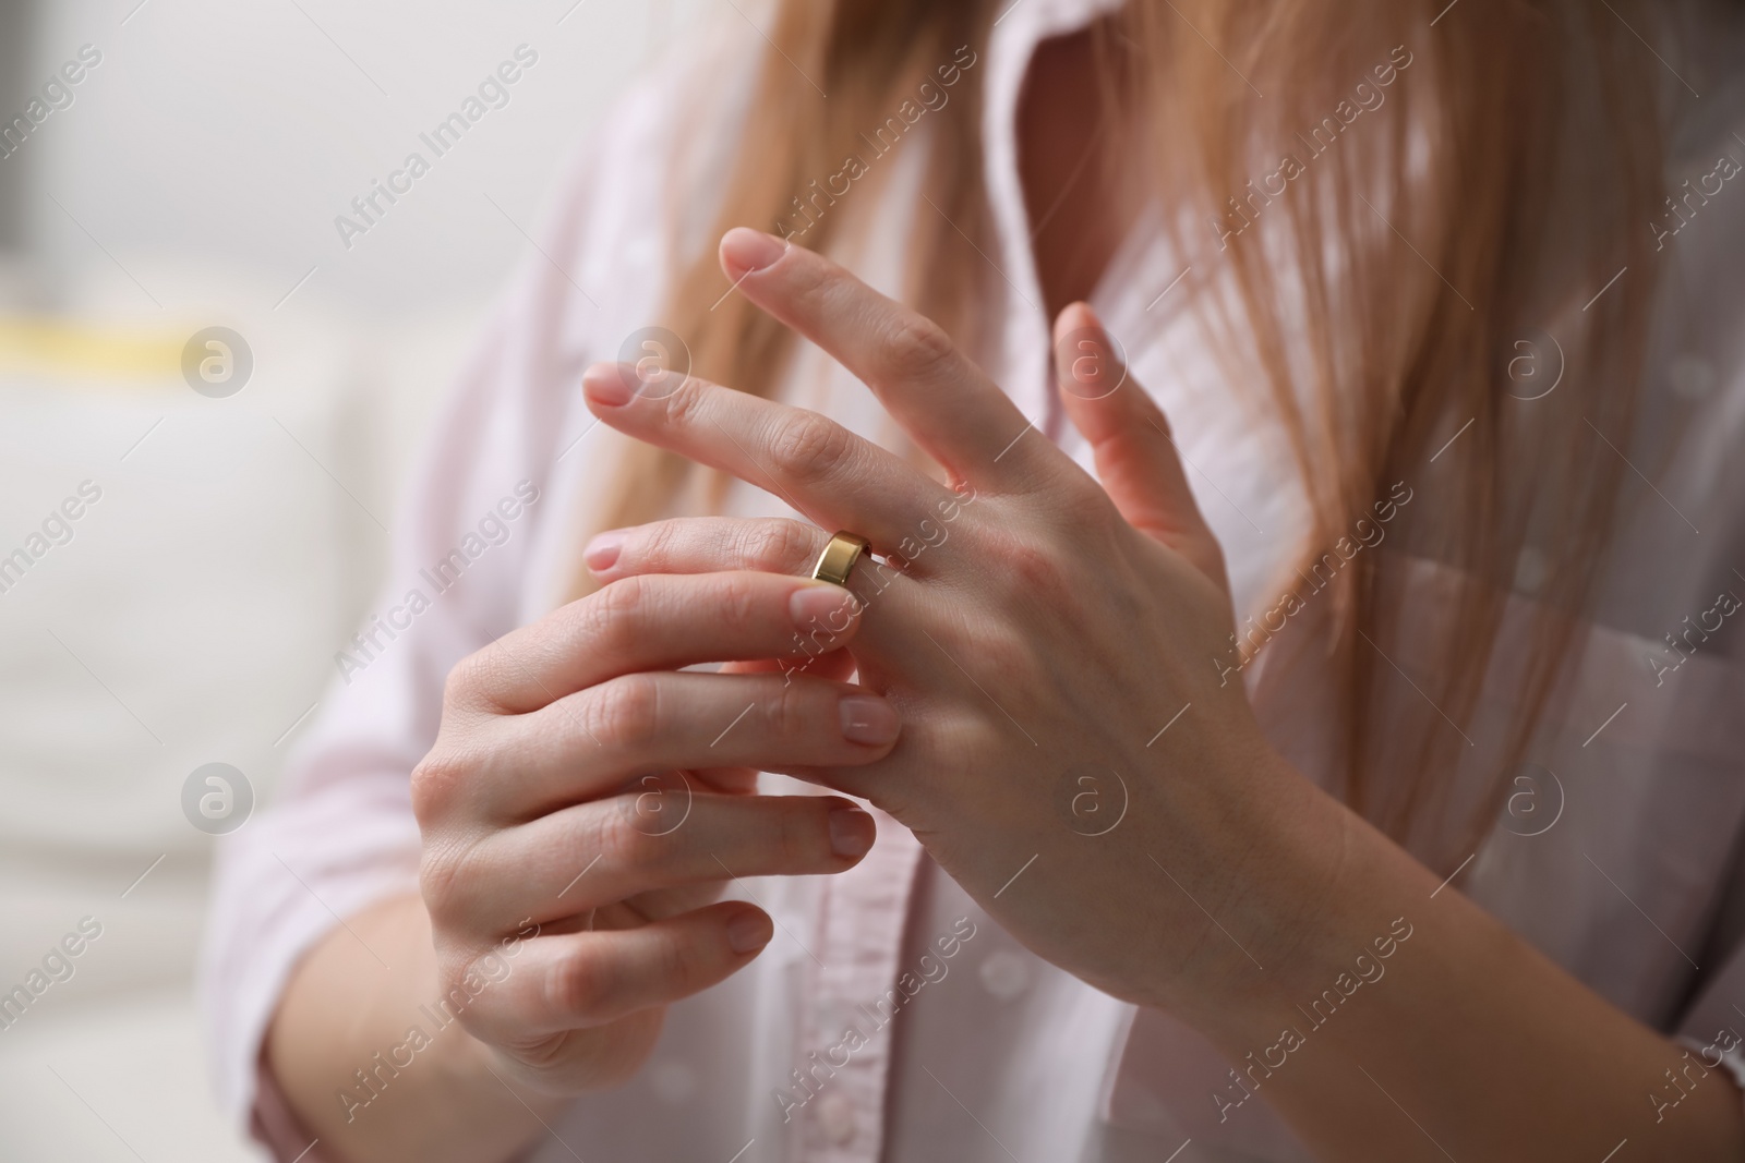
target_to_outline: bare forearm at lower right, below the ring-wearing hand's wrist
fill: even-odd
[[[1237,1064],[1211,1098],[1225,1119],[1263,1098],[1324,1160],[1597,1163],[1623,1140],[1630,1160],[1745,1158],[1745,1104],[1724,1071],[1326,807],[1293,821],[1319,837],[1319,856],[1298,846],[1317,868],[1276,881],[1324,886],[1319,907],[1293,905],[1316,919],[1251,997],[1206,1011]]]

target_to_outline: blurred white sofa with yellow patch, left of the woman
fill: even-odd
[[[134,274],[229,307],[143,314],[117,274],[0,314],[0,1161],[260,1158],[209,1097],[213,837],[183,785],[223,762],[270,800],[475,326],[359,331],[211,270]],[[253,356],[229,398],[181,371],[215,324]],[[21,547],[45,551],[5,570]],[[82,921],[101,935],[44,969]]]

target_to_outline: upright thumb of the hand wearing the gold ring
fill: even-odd
[[[1127,377],[1089,303],[1071,303],[1054,319],[1054,380],[1115,509],[1228,589],[1223,551],[1188,488],[1169,420]]]

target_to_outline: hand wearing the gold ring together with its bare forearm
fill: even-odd
[[[1232,633],[1218,546],[1167,422],[1087,307],[1056,321],[1056,378],[1103,486],[937,326],[834,263],[733,230],[722,267],[864,380],[955,485],[797,408],[695,378],[637,394],[609,364],[585,377],[604,422],[770,488],[818,527],[614,530],[586,553],[602,579],[804,574],[834,528],[890,558],[850,581],[864,624],[846,649],[904,736],[888,758],[811,778],[909,826],[1038,956],[1190,1022],[1232,1062],[1312,1029],[1260,1095],[1323,1160],[1598,1161],[1621,1140],[1619,1160],[1745,1153],[1745,1104],[1722,1072],[1656,1111],[1663,1072],[1694,1060],[1682,1046],[1441,888],[1263,743],[1213,663]],[[1120,774],[1119,825],[1077,814],[1085,771]],[[1298,1006],[1359,952],[1373,962],[1396,921],[1412,936],[1386,978],[1310,1027]]]

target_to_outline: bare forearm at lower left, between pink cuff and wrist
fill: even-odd
[[[428,1037],[422,1048],[408,1043],[412,1029]],[[267,1060],[321,1151],[347,1163],[506,1160],[564,1105],[525,1088],[517,1097],[487,1072],[485,1046],[440,1004],[415,896],[349,917],[304,957]]]

